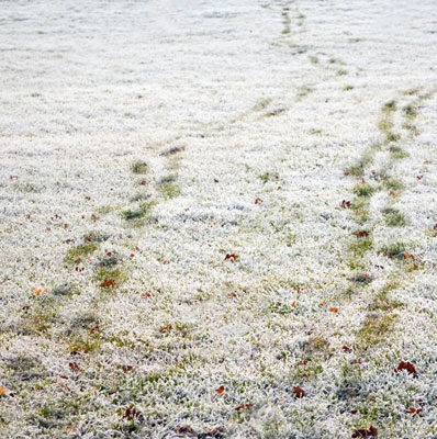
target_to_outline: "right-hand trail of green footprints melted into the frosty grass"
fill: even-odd
[[[411,93],[415,94],[416,91],[406,92],[405,94]],[[417,116],[418,104],[430,98],[430,95],[432,93],[421,94],[402,108],[405,121],[404,128],[412,130],[415,133],[415,127],[410,128],[408,126],[411,126],[412,119]],[[413,281],[408,273],[421,268],[421,262],[415,260],[410,252],[411,250],[403,243],[389,243],[379,249],[373,248],[372,236],[378,232],[378,227],[381,228],[379,230],[381,234],[385,227],[403,227],[406,222],[403,214],[391,206],[392,200],[401,196],[403,183],[391,177],[390,172],[394,170],[396,161],[407,157],[407,153],[401,148],[401,135],[392,131],[394,127],[393,117],[396,111],[399,109],[395,101],[386,102],[383,105],[378,127],[381,134],[384,135],[384,140],[381,144],[373,145],[362,155],[357,165],[348,168],[345,172],[347,176],[357,179],[357,184],[354,189],[356,198],[350,204],[357,225],[357,230],[354,233],[356,238],[349,245],[349,266],[352,270],[349,279],[354,286],[347,292],[347,296],[352,301],[358,296],[365,302],[366,296],[370,296],[370,302],[367,305],[368,314],[355,336],[355,346],[352,349],[345,347],[345,351],[352,352],[355,360],[346,365],[347,373],[344,374],[344,381],[339,385],[339,389],[344,390],[344,398],[347,401],[354,398],[356,406],[359,403],[363,403],[366,406],[367,397],[360,395],[359,392],[359,382],[362,380],[359,368],[352,370],[351,364],[354,362],[358,364],[361,357],[370,359],[372,349],[377,348],[381,342],[386,342],[388,338],[395,336],[393,333],[396,323],[396,308],[404,306],[404,304],[391,299],[390,293],[401,286],[405,288],[406,282]],[[379,171],[372,169],[378,155],[388,153],[390,154],[388,165]],[[372,181],[372,183],[368,181]],[[372,198],[378,191],[383,190],[388,192],[389,196],[386,205],[382,210],[384,222],[381,224],[381,221],[378,219],[381,215],[378,215],[377,212],[371,215],[370,210]],[[384,283],[383,286],[372,288],[373,275],[366,272],[366,270],[370,271],[370,264],[378,260],[378,256],[395,260],[397,263],[390,263],[389,267],[374,266],[380,271],[378,277],[383,278]],[[383,274],[381,270],[383,270]],[[361,290],[360,294],[358,294],[358,290]],[[393,358],[392,361],[394,364],[399,359]],[[384,371],[381,371],[381,373],[384,373]],[[361,419],[357,419],[357,423],[359,425]]]

